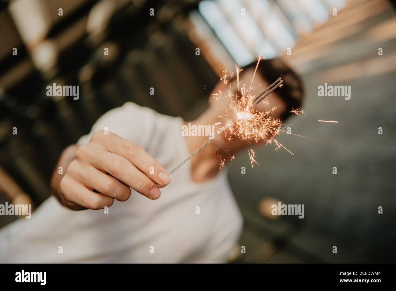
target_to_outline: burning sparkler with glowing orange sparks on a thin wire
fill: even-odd
[[[257,61],[256,70],[259,64],[260,58]],[[256,72],[255,70],[255,72]],[[237,88],[239,88],[239,69],[236,69],[237,74]],[[220,79],[227,84],[229,79],[232,78],[233,72],[224,70],[223,74],[220,76]],[[254,74],[253,74],[254,78]],[[253,82],[252,78],[252,82]],[[218,137],[221,133],[226,131],[226,136],[228,136],[228,140],[232,139],[232,136],[240,137],[242,139],[253,139],[257,143],[259,140],[264,140],[271,138],[268,143],[274,141],[278,147],[282,146],[279,144],[274,137],[280,132],[280,125],[282,121],[280,119],[275,119],[270,116],[270,113],[273,112],[276,107],[269,109],[266,112],[255,110],[254,107],[258,105],[261,101],[263,101],[268,95],[270,95],[276,88],[282,87],[283,85],[282,77],[278,78],[275,82],[273,82],[270,86],[268,86],[263,92],[261,92],[257,97],[255,95],[250,94],[249,91],[245,94],[242,93],[242,96],[236,99],[232,99],[231,95],[228,96],[231,99],[229,112],[233,116],[230,120],[226,122],[226,124],[221,127],[217,131],[215,135],[210,137],[207,141],[205,141],[199,148],[197,148],[188,158],[186,158],[181,164],[179,164],[175,169],[173,169],[169,175],[171,175],[174,171],[179,169],[183,164],[185,164],[188,160],[190,160],[194,155],[196,155],[202,148],[204,148],[208,143],[213,141],[216,137]],[[251,86],[250,86],[251,87]],[[216,99],[221,98],[221,92],[219,94],[212,94],[212,96]],[[219,124],[219,123],[217,123]],[[249,158],[251,161],[251,165],[253,167],[253,163],[257,164],[254,160],[255,153],[253,150],[249,152]],[[221,160],[221,158],[220,158]],[[221,160],[221,167],[224,166],[224,160]]]

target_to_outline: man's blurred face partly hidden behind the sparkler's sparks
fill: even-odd
[[[239,82],[240,82],[240,87],[245,87],[249,88],[251,80],[254,75],[254,68],[250,68],[248,70],[244,70],[239,74]],[[259,95],[264,89],[266,89],[272,82],[275,80],[265,80],[263,76],[260,74],[260,72],[257,70],[256,74],[254,75],[253,78],[253,83],[251,85],[251,90],[250,93],[253,95]],[[236,93],[236,78],[231,82],[231,84],[224,84],[224,82],[219,82],[215,89],[213,89],[213,93],[218,93],[221,90],[222,96],[226,96],[228,92],[231,91],[232,94]],[[282,90],[282,88],[278,88],[276,90]],[[268,95],[265,100],[268,101],[269,107],[276,107],[276,109],[272,112],[272,116],[274,118],[279,117],[285,110],[286,110],[286,103],[276,94],[276,90]],[[209,97],[209,107],[210,110],[214,111],[223,111],[227,110],[228,98],[223,98],[221,100],[217,100],[213,97]],[[260,103],[259,105],[256,105],[256,109],[258,110],[268,110],[268,105],[263,105]]]

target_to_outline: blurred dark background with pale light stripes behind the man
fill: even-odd
[[[389,0],[0,2],[0,204],[38,207],[51,194],[63,148],[109,109],[133,101],[195,118],[224,68],[261,53],[303,77],[307,116],[286,124],[318,141],[285,135],[280,142],[293,156],[268,145],[256,150],[259,166],[251,168],[247,154],[230,164],[246,246],[233,262],[394,262],[394,7]],[[47,97],[53,83],[79,85],[80,99]],[[318,97],[324,83],[351,86],[351,99]],[[305,218],[274,220],[268,205],[277,201],[305,204]],[[0,216],[0,227],[15,219]]]

